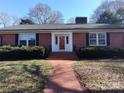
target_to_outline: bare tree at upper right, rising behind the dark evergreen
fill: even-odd
[[[110,11],[113,14],[116,14],[116,11],[119,8],[124,8],[123,0],[104,0],[100,6],[94,11],[94,14],[91,17],[91,22],[95,23],[100,15],[105,11]]]

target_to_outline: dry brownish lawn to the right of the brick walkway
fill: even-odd
[[[124,93],[124,59],[78,61],[74,70],[86,93]]]

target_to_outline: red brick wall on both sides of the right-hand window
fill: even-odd
[[[73,45],[77,48],[86,46],[86,33],[73,33]],[[124,47],[124,33],[110,32],[110,47]]]

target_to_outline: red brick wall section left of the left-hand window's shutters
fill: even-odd
[[[2,43],[2,45],[15,45],[15,34],[0,35],[0,43]]]

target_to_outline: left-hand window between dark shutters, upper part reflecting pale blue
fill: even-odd
[[[36,34],[32,33],[19,34],[19,45],[35,46]]]

